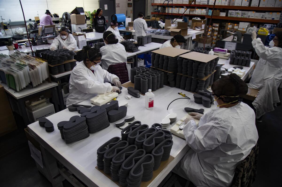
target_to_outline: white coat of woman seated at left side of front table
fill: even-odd
[[[81,61],[70,74],[67,106],[95,97],[99,93],[111,92],[113,79],[119,80],[116,75],[103,70],[101,66],[93,73]]]

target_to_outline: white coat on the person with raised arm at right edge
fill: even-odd
[[[282,81],[282,48],[265,47],[261,42],[261,38],[252,41],[255,52],[260,57],[257,63],[250,85],[253,88],[261,89],[266,79],[275,77],[276,87]]]

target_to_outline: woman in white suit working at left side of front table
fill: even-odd
[[[91,99],[100,93],[120,92],[119,78],[100,66],[102,55],[99,49],[87,45],[83,50],[83,61],[78,63],[70,74],[67,106]]]

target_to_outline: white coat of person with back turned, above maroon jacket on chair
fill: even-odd
[[[100,48],[102,68],[108,70],[109,65],[127,62],[126,51],[122,44],[107,44]]]

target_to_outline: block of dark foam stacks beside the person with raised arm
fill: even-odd
[[[233,50],[230,52],[229,64],[250,67],[251,56],[251,51]]]

